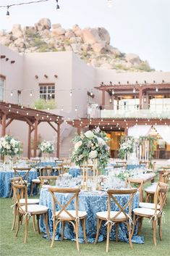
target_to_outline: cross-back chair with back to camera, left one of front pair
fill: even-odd
[[[78,242],[78,225],[79,220],[82,223],[83,231],[84,231],[84,239],[85,243],[87,244],[87,238],[85,234],[85,218],[87,216],[87,212],[82,212],[78,210],[78,197],[80,193],[80,189],[69,189],[69,188],[52,188],[49,187],[48,190],[51,193],[51,196],[53,197],[53,239],[51,242],[51,247],[54,245],[54,239],[56,234],[56,228],[59,225],[59,223],[62,223],[62,231],[61,231],[61,241],[64,239],[64,222],[69,222],[72,224],[75,235],[76,235],[76,245],[77,245],[77,251],[80,250],[79,248],[79,242]],[[54,193],[67,193],[70,194],[70,198],[68,199],[67,203],[62,205],[61,202],[56,197],[56,194]],[[67,207],[71,204],[71,202],[75,199],[75,210],[67,210]],[[61,207],[61,210],[56,211],[56,205]]]

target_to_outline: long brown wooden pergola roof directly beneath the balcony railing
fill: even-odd
[[[80,118],[67,123],[77,128],[78,134],[82,128],[91,130],[97,126],[102,131],[124,131],[127,134],[128,128],[134,125],[170,125],[170,118]]]

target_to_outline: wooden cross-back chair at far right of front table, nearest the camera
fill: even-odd
[[[133,223],[139,222],[137,234],[140,235],[142,229],[143,218],[149,218],[152,222],[153,228],[153,243],[156,245],[156,222],[158,221],[158,234],[159,239],[162,240],[161,231],[161,218],[164,215],[163,206],[166,202],[166,194],[168,193],[169,186],[166,183],[158,182],[156,186],[156,194],[154,197],[154,208],[135,208],[133,210]],[[158,207],[159,205],[159,207]],[[134,228],[133,228],[134,232]]]

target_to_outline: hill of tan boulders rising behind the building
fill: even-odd
[[[74,25],[64,29],[61,24],[51,25],[43,18],[35,26],[21,28],[13,25],[12,31],[0,30],[0,43],[19,52],[75,51],[76,54],[94,67],[124,71],[151,71],[147,61],[137,54],[124,54],[110,45],[106,28],[83,28]]]

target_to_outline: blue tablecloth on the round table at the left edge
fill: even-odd
[[[25,174],[25,171],[20,171],[20,176]],[[13,170],[0,170],[0,197],[9,197],[11,192],[11,178],[14,177]],[[30,184],[33,178],[37,178],[37,171],[30,170],[28,181],[28,194],[30,194]]]

